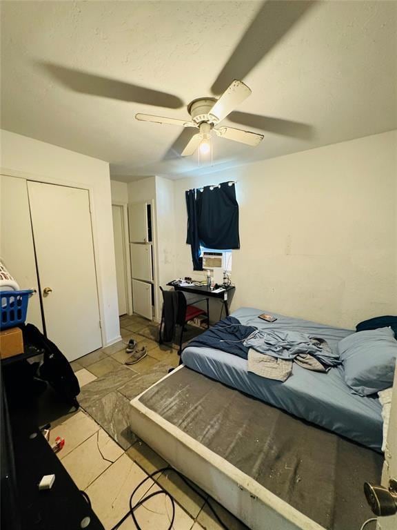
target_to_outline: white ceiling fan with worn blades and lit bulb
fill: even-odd
[[[187,112],[189,112],[191,117],[190,120],[184,121],[183,119],[165,118],[141,113],[136,114],[135,117],[140,121],[152,121],[156,124],[198,128],[200,132],[192,136],[190,141],[187,142],[187,146],[183,149],[181,153],[183,157],[193,155],[198,147],[202,154],[208,153],[211,148],[212,131],[221,138],[239,141],[241,144],[249,146],[257,146],[263,140],[263,135],[251,133],[248,130],[218,126],[250,94],[251,89],[247,85],[242,81],[234,80],[219,99],[214,99],[213,97],[194,99],[187,106]]]

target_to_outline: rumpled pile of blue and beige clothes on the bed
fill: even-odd
[[[248,371],[285,381],[292,374],[295,362],[302,368],[327,372],[340,364],[339,355],[327,342],[299,331],[257,329],[244,326],[234,317],[227,317],[189,346],[214,348],[247,359]]]

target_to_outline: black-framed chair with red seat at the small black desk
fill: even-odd
[[[160,330],[159,330],[159,344],[163,344],[163,338],[161,337],[161,330],[163,328],[163,323],[165,321],[165,313],[164,313],[164,297],[167,293],[170,293],[170,291],[164,291],[162,287],[160,287],[161,293],[163,295],[163,309],[161,311],[161,323],[160,323]],[[208,297],[198,297],[198,295],[190,295],[187,296],[182,291],[174,291],[172,293],[174,297],[176,297],[177,301],[177,311],[176,315],[174,316],[174,323],[178,326],[181,326],[181,335],[179,337],[179,350],[178,355],[181,355],[182,353],[182,343],[183,343],[183,331],[185,331],[185,324],[189,322],[189,320],[193,320],[194,318],[198,317],[199,315],[206,315],[207,316],[207,328],[210,327],[210,299]],[[205,300],[207,302],[207,312],[205,312],[203,309],[194,306],[197,302],[203,302]]]

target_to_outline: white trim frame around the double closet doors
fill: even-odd
[[[26,171],[19,170],[10,170],[8,168],[0,167],[0,172],[3,175],[8,177],[17,177],[19,179],[24,179],[26,181],[31,180],[35,182],[41,182],[42,184],[54,184],[55,186],[66,186],[68,188],[78,188],[80,190],[87,190],[88,197],[90,199],[90,217],[91,217],[91,228],[92,228],[92,244],[94,246],[94,264],[95,264],[95,282],[96,282],[96,291],[98,293],[99,301],[99,318],[101,324],[101,340],[102,347],[110,346],[110,344],[120,340],[120,337],[116,337],[115,340],[107,342],[106,339],[106,320],[103,311],[104,300],[103,300],[103,291],[101,288],[101,282],[99,282],[99,271],[101,270],[101,265],[99,263],[99,244],[98,244],[98,224],[96,221],[96,212],[95,212],[95,200],[94,200],[94,188],[92,186],[82,186],[81,183],[77,183],[72,179],[56,179],[54,177],[49,177],[48,175],[37,175],[35,173],[28,173]]]

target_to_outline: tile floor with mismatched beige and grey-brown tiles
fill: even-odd
[[[139,482],[167,462],[130,431],[128,407],[139,395],[179,363],[175,347],[159,346],[158,325],[133,315],[121,317],[122,341],[94,351],[72,362],[81,386],[81,409],[53,422],[51,440],[65,438],[59,458],[78,487],[86,491],[92,507],[106,530],[111,529],[128,511],[130,494]],[[134,338],[147,347],[147,357],[132,366],[123,364],[128,357],[125,342]],[[156,483],[158,482],[158,484]],[[147,480],[136,492],[139,500],[159,486],[175,502],[174,530],[221,530],[204,500],[173,473]],[[196,491],[198,487],[192,486]],[[203,493],[201,491],[203,495]],[[206,496],[206,495],[205,495]],[[216,501],[210,501],[230,530],[246,530],[244,524]],[[156,495],[136,510],[136,520],[144,530],[165,530],[170,524],[170,500]],[[132,518],[120,530],[136,529]]]

